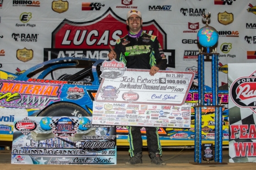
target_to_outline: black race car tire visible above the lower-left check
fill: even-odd
[[[44,109],[38,116],[76,116],[90,117],[90,114],[73,103],[56,103]]]

